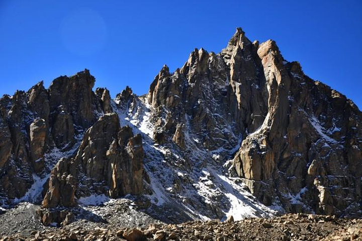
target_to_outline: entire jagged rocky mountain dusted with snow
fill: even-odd
[[[238,28],[144,96],[94,84],[85,69],[0,99],[3,208],[40,205],[45,225],[118,198],[166,223],[361,215],[362,113],[273,40]]]

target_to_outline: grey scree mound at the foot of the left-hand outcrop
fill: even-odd
[[[84,232],[99,230],[128,230],[133,228],[145,229],[150,224],[159,224],[145,210],[137,210],[136,201],[117,199],[99,206],[75,206],[72,208],[42,209],[38,205],[20,203],[13,209],[4,211],[0,215],[0,237],[21,233],[24,236],[32,232],[59,230],[56,227],[70,230],[83,230]],[[44,222],[51,221],[48,226]],[[123,234],[123,233],[122,233]],[[34,234],[33,234],[34,235]],[[33,237],[31,235],[31,237]],[[122,235],[121,235],[122,237]],[[44,236],[43,236],[44,238]]]

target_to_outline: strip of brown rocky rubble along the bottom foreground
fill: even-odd
[[[362,222],[330,216],[288,214],[272,219],[247,218],[235,222],[192,221],[151,224],[148,228],[86,229],[65,226],[3,236],[2,240],[359,240]],[[6,239],[7,238],[7,239]]]

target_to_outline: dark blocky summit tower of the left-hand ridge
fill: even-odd
[[[50,85],[49,102],[57,147],[72,143],[74,134],[91,127],[102,113],[100,98],[92,91],[94,84],[95,78],[85,69],[71,77],[58,77]]]

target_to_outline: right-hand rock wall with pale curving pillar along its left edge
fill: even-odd
[[[258,87],[267,90],[267,113],[235,155],[238,175],[266,205],[279,199],[289,212],[358,213],[360,111],[306,76],[299,63],[286,62],[274,41],[260,44],[256,53],[265,75]]]

